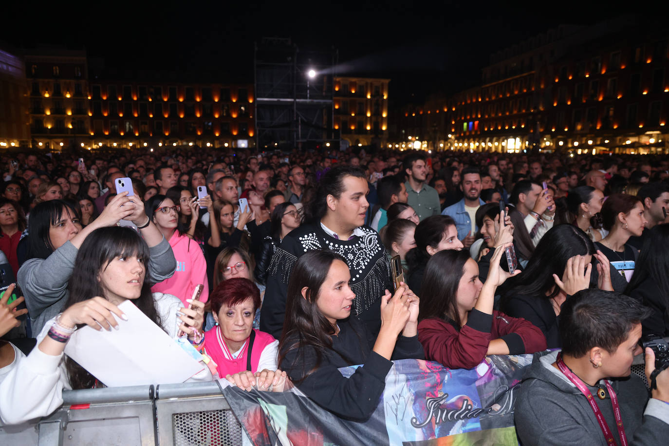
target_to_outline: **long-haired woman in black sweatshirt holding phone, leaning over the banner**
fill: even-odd
[[[297,261],[279,342],[279,368],[316,404],[335,415],[364,421],[379,404],[391,359],[423,358],[417,340],[419,300],[405,285],[381,298],[376,338],[351,314],[355,294],[345,259],[310,251]],[[345,378],[339,367],[364,364]]]

